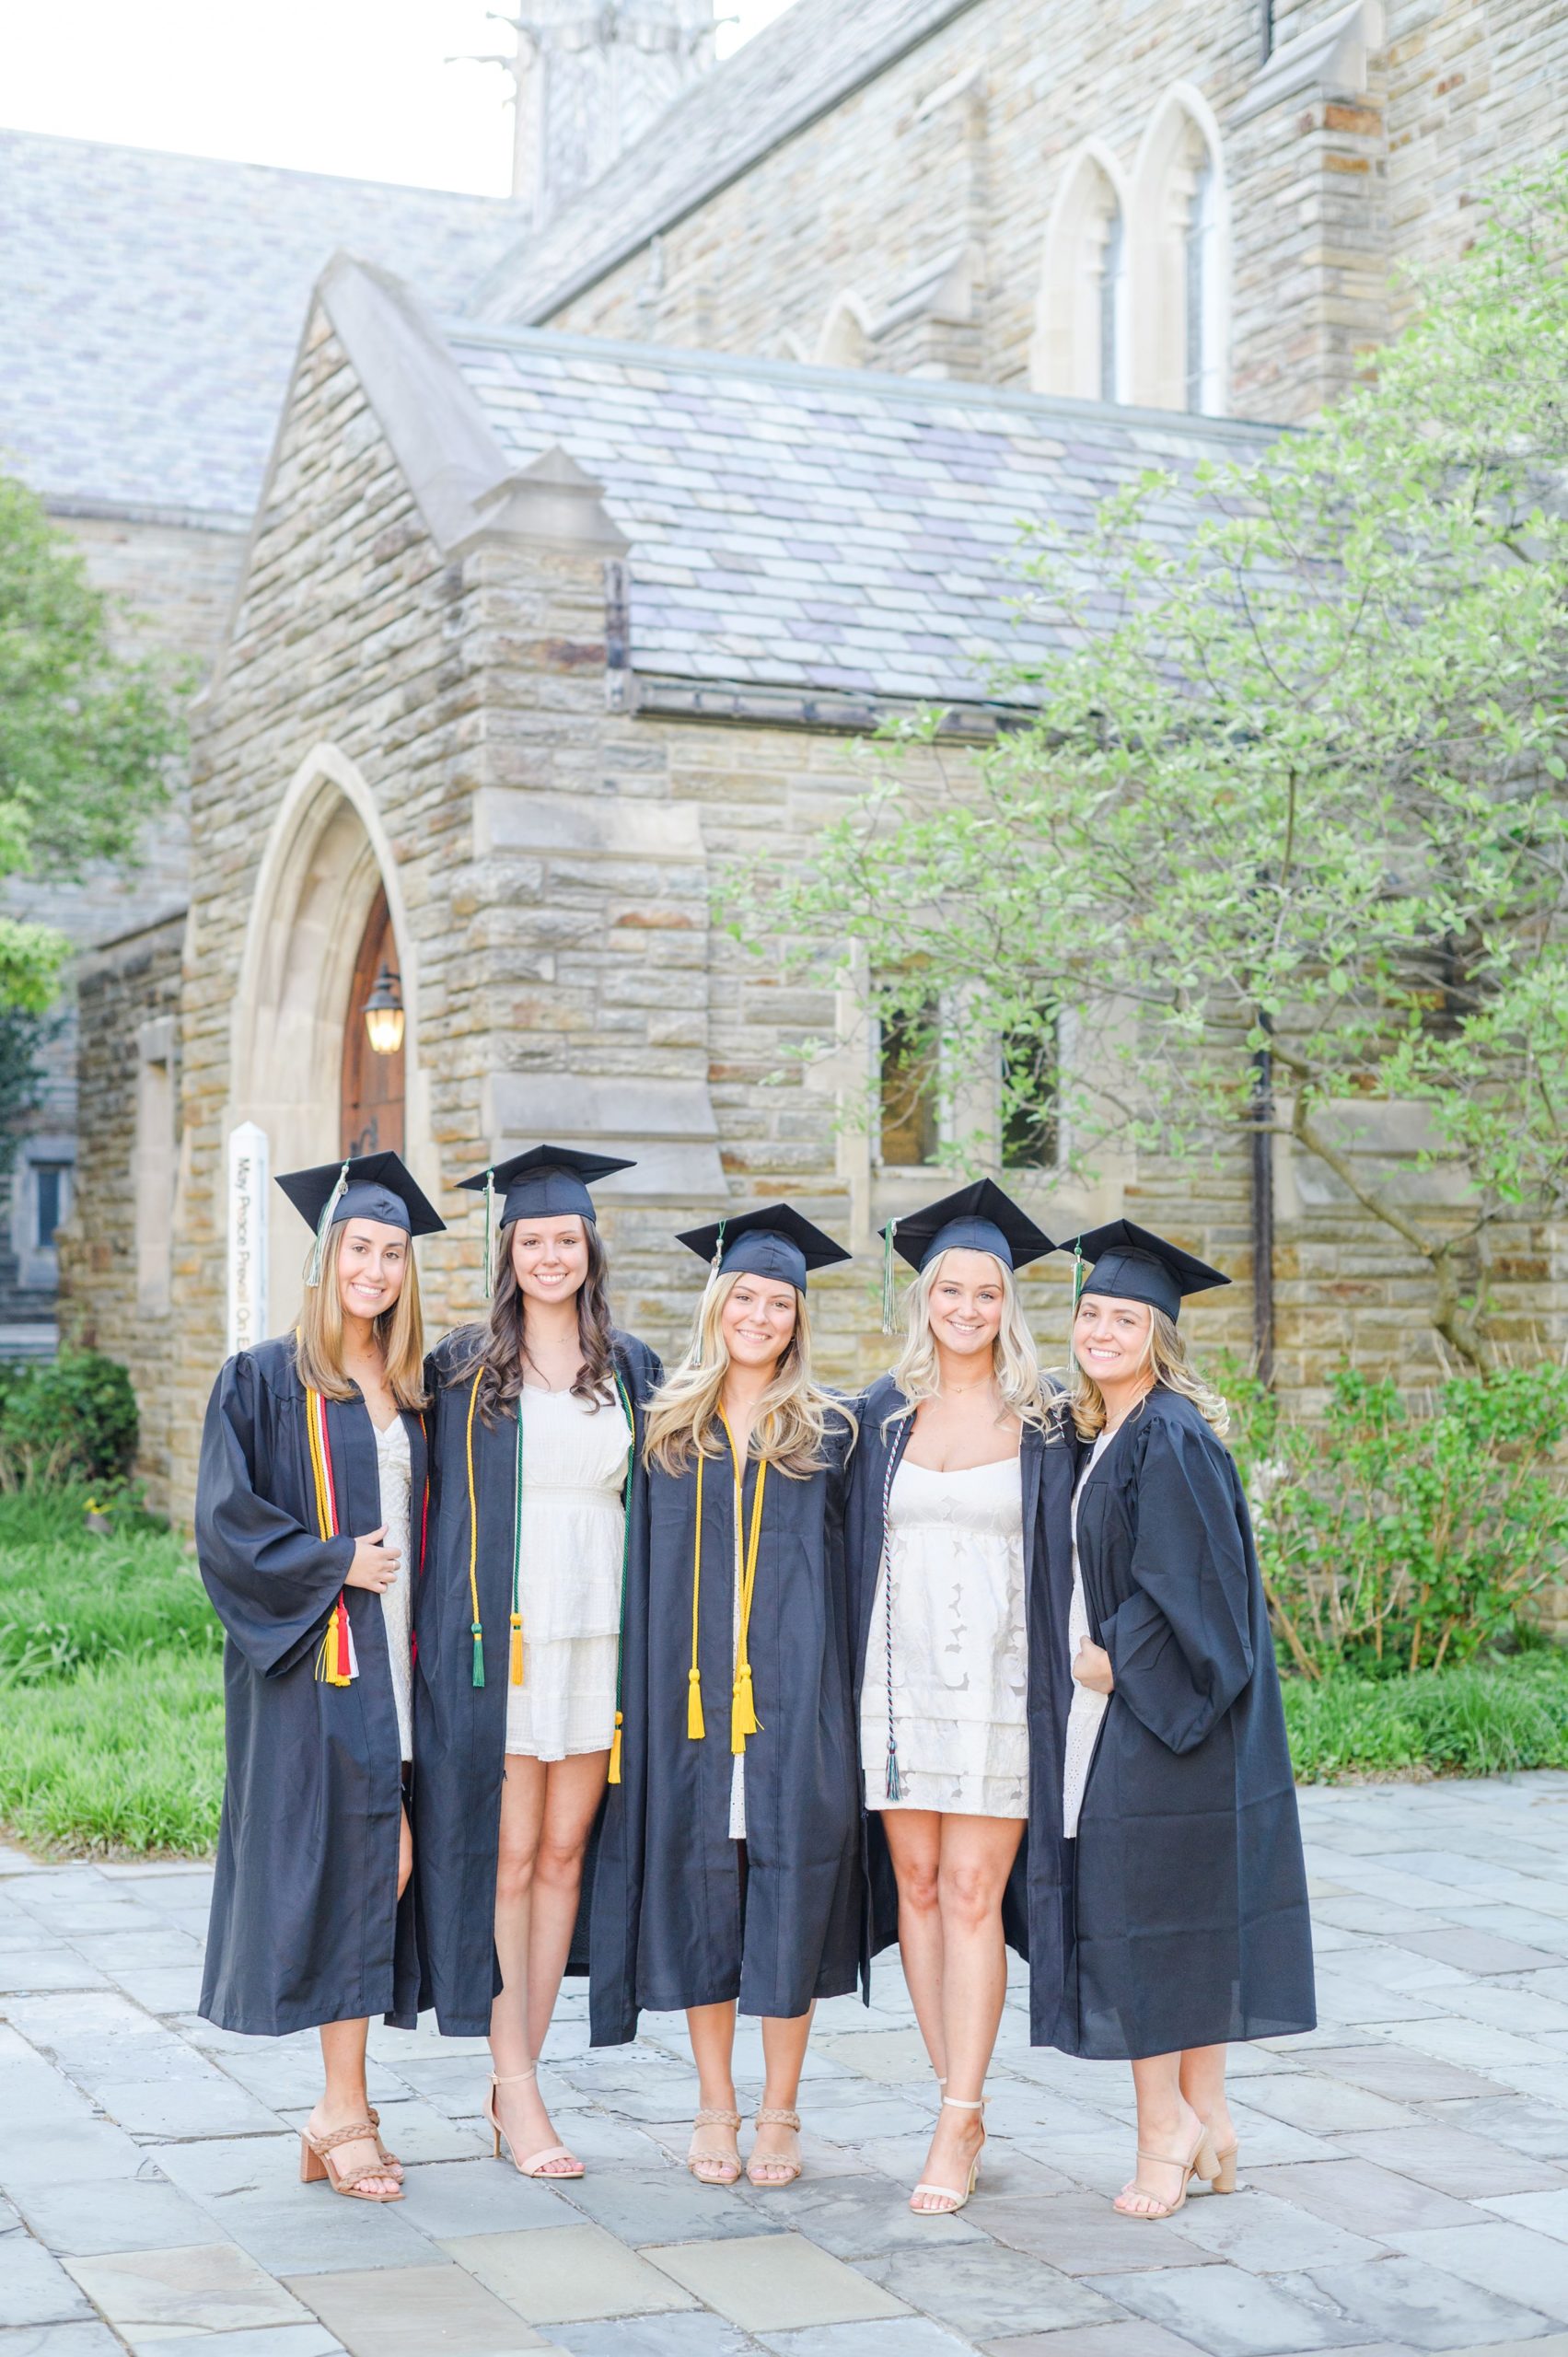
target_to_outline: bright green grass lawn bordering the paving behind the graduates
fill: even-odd
[[[83,1492],[0,1497],[0,1827],[73,1857],[200,1857],[224,1794],[222,1631],[191,1556]],[[1568,1768],[1568,1648],[1285,1681],[1304,1784]]]

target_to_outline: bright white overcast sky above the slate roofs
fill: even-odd
[[[507,47],[486,0],[0,0],[0,125],[505,196],[507,78],[443,59]]]

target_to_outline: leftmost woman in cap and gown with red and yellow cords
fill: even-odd
[[[226,1638],[229,1751],[200,2013],[262,2036],[321,2029],[325,2093],[299,2173],[396,2201],[365,2034],[370,2013],[413,2027],[417,1996],[403,1904],[424,1530],[413,1240],[443,1223],[396,1155],[278,1186],[314,1228],[299,1322],[224,1365],[196,1485],[196,1556]]]

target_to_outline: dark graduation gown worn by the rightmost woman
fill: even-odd
[[[1056,2046],[1096,2060],[1311,2029],[1297,1796],[1231,1452],[1162,1386],[1085,1478],[1078,1560],[1115,1692],[1078,1822]]]

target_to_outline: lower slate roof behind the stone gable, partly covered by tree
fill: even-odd
[[[870,370],[448,325],[519,467],[554,443],[632,542],[632,667],[691,681],[981,702],[1028,625],[1019,542],[1148,467],[1278,429]]]

